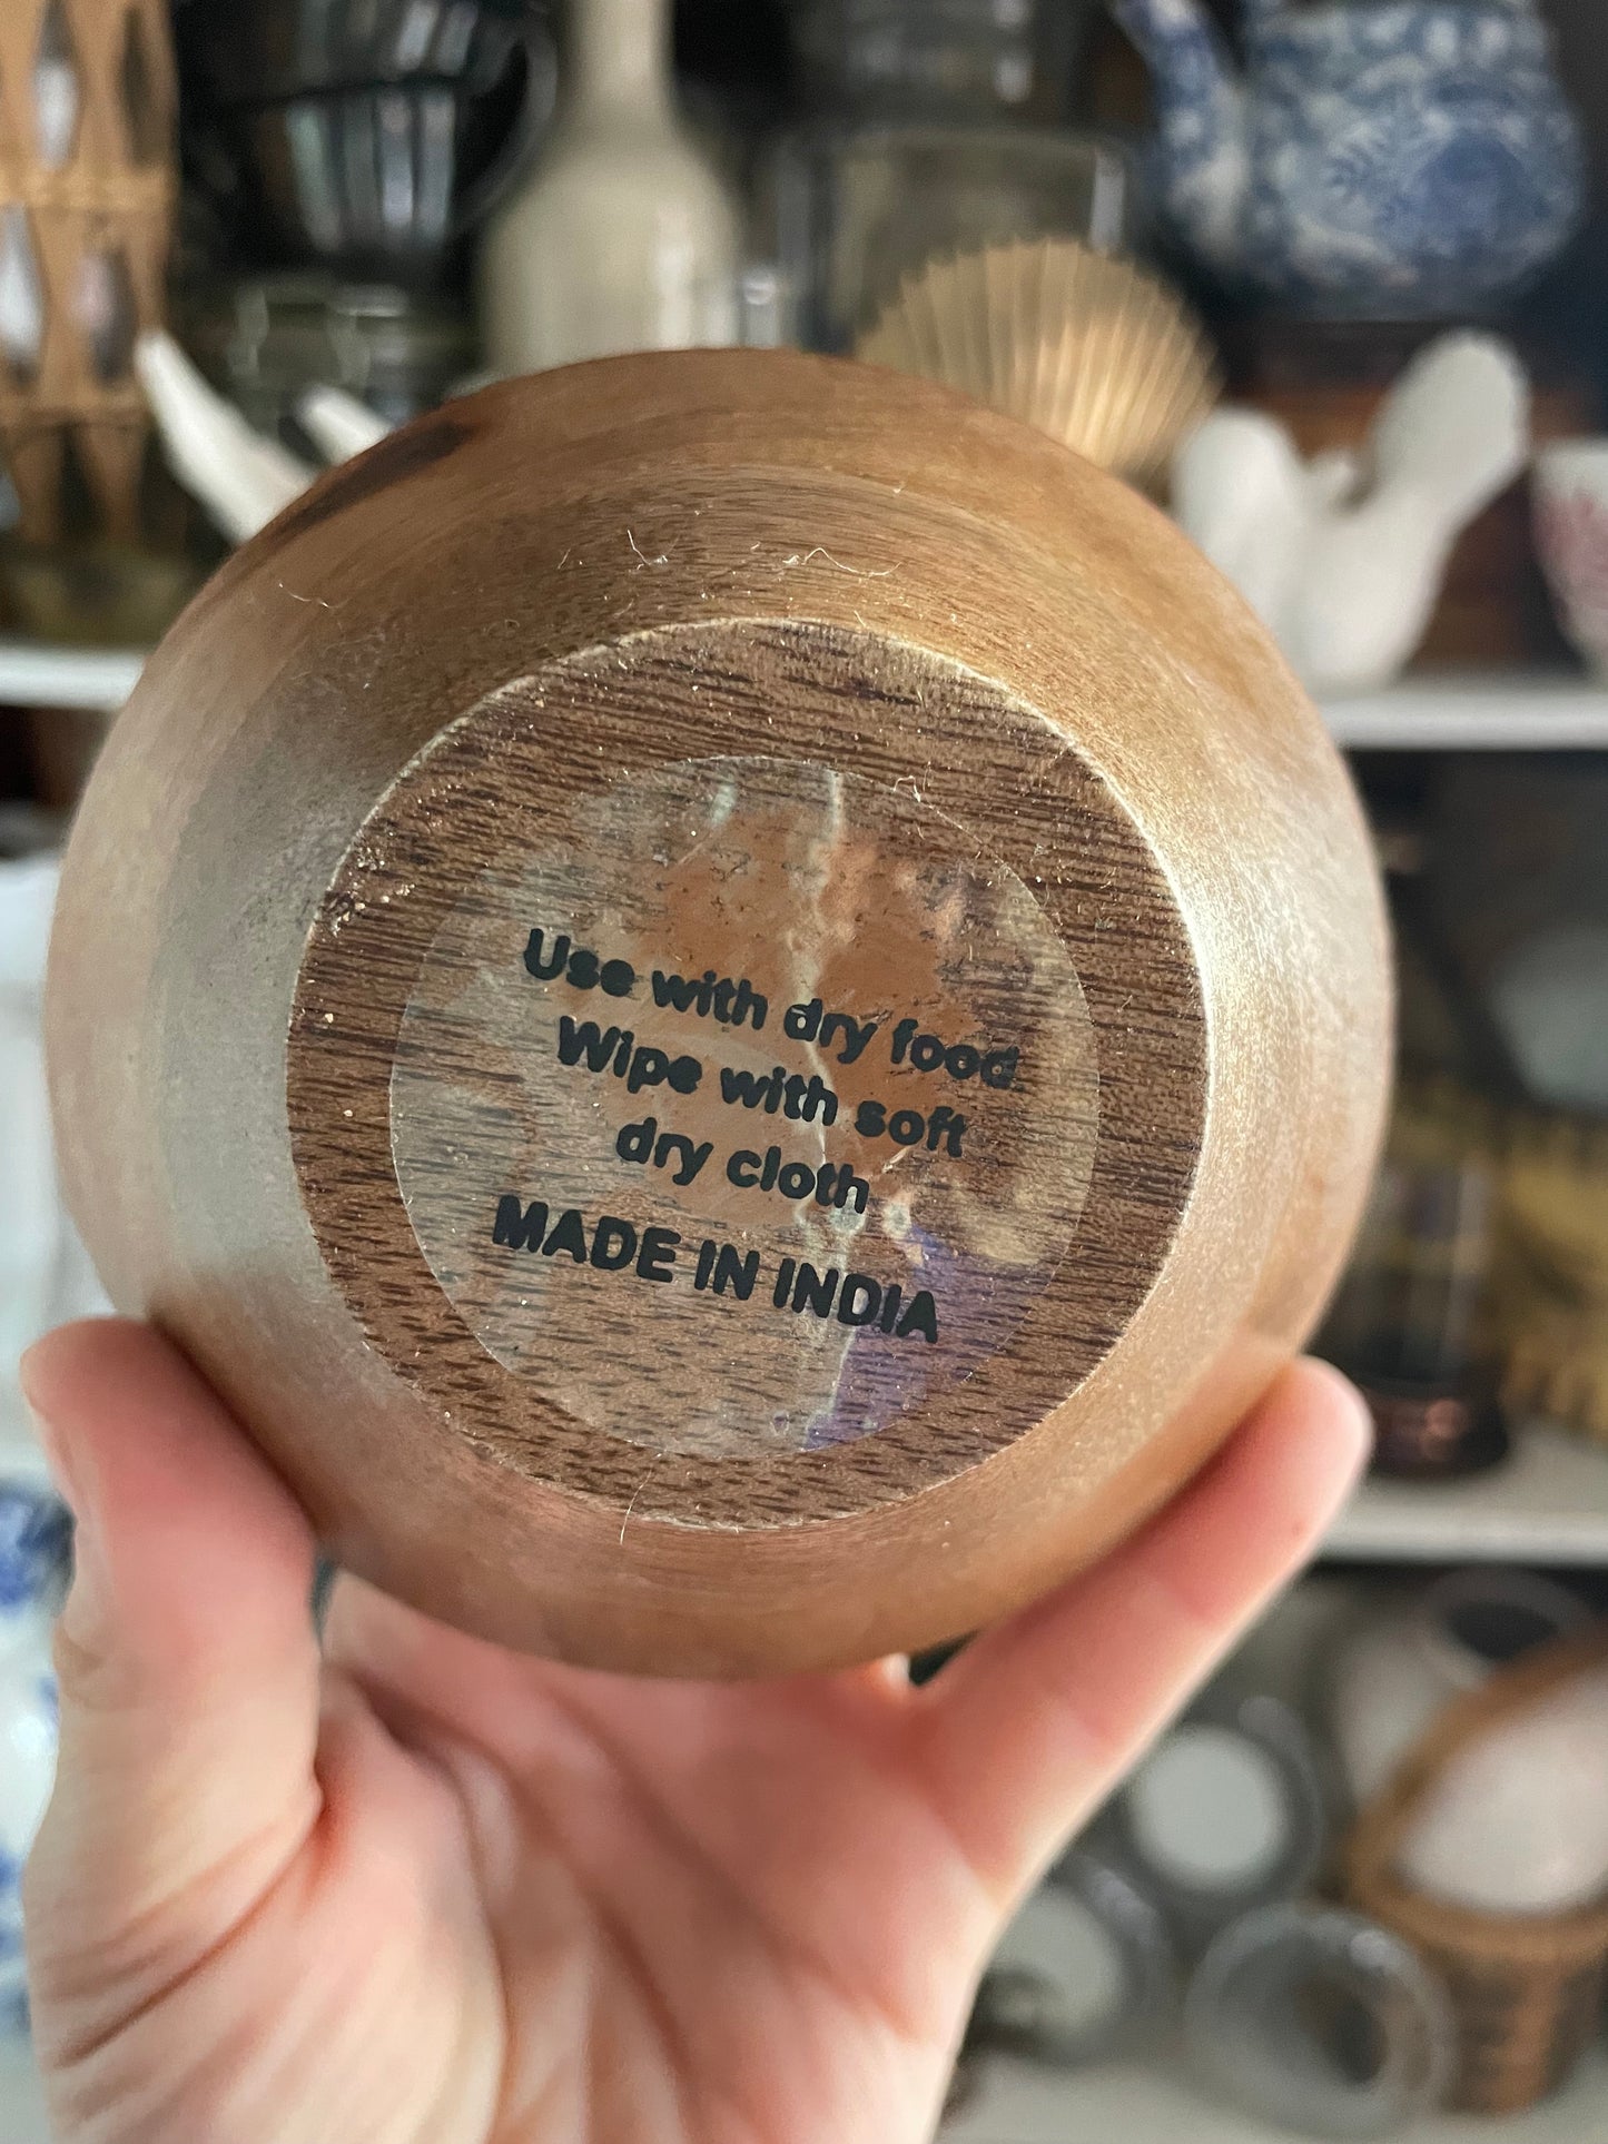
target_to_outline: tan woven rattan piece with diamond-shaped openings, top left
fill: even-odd
[[[165,0],[0,0],[0,448],[21,534],[62,536],[69,461],[99,534],[137,534],[174,217]]]

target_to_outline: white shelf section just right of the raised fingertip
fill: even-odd
[[[1466,1482],[1364,1482],[1325,1554],[1351,1563],[1608,1567],[1608,1451],[1529,1424],[1501,1466]]]

